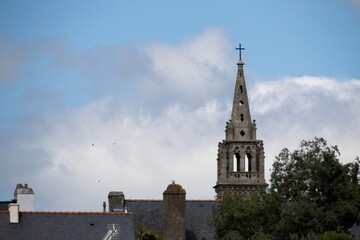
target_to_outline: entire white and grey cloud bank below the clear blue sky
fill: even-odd
[[[173,179],[188,198],[215,195],[217,144],[236,78],[221,31],[207,29],[173,46],[98,47],[81,54],[64,43],[45,45],[50,68],[76,72],[75,84],[91,80],[98,98],[44,116],[36,112],[36,120],[21,116],[11,141],[0,133],[1,149],[7,149],[2,159],[9,159],[0,169],[7,189],[27,181],[41,210],[101,210],[113,190],[159,199]],[[245,75],[252,77],[246,65]],[[360,80],[303,76],[252,86],[251,112],[267,169],[283,147],[294,149],[314,136],[339,145],[343,162],[359,155]]]

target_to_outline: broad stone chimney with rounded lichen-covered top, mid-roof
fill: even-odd
[[[172,181],[163,193],[163,240],[185,240],[185,189]]]

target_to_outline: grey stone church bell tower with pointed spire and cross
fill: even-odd
[[[266,186],[263,141],[256,138],[256,123],[251,120],[241,44],[237,63],[231,119],[226,123],[225,140],[219,143],[215,192],[249,193]]]

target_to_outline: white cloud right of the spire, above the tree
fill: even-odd
[[[303,76],[257,83],[250,98],[258,135],[265,141],[267,168],[282,148],[296,149],[301,140],[315,136],[338,145],[344,163],[359,156],[359,91],[357,79]]]

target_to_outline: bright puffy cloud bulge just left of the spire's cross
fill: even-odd
[[[229,46],[218,29],[209,28],[180,46],[153,44],[147,52],[167,90],[192,100],[205,100],[218,94],[224,80],[231,76]]]

